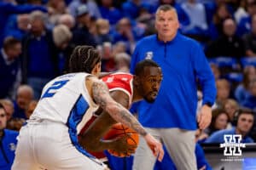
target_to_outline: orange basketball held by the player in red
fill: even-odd
[[[130,127],[126,127],[125,125],[121,123],[116,123],[114,124],[108,133],[104,136],[104,139],[115,139],[118,137],[125,136],[125,134],[129,134],[130,136],[128,137],[127,144],[138,144],[139,142],[139,134],[132,130]],[[118,157],[125,157],[125,154],[119,155],[119,153],[113,151],[113,150],[108,150],[108,152],[113,155],[113,156],[118,156]]]

